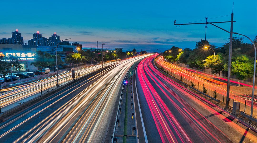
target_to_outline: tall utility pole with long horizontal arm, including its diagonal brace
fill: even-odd
[[[227,97],[226,97],[226,107],[225,108],[228,108],[228,105],[229,105],[229,101],[230,101],[230,98],[229,98],[229,94],[230,94],[230,77],[231,77],[231,57],[232,57],[232,36],[233,36],[233,22],[236,22],[236,21],[233,21],[233,17],[234,17],[234,14],[231,13],[231,21],[223,21],[223,22],[207,22],[207,19],[206,19],[206,22],[205,23],[185,23],[185,24],[176,24],[176,20],[174,21],[174,25],[192,25],[192,24],[205,24],[207,26],[207,24],[211,24],[213,26],[216,26],[218,27],[219,29],[222,29],[228,33],[230,33],[230,43],[229,43],[229,52],[228,52],[228,76],[227,76]],[[215,25],[214,23],[229,23],[230,22],[230,32]],[[235,33],[234,33],[235,34]]]

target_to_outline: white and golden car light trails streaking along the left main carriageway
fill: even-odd
[[[110,110],[109,106],[116,99],[116,92],[120,84],[122,84],[123,76],[134,62],[149,55],[142,55],[117,63],[116,66],[109,67],[89,78],[88,80],[94,82],[86,88],[81,87],[87,83],[68,93],[63,91],[60,94],[60,96],[62,95],[60,99],[36,111],[35,114],[22,120],[19,124],[15,125],[13,123],[15,120],[28,116],[27,114],[17,117],[17,119],[12,120],[6,125],[0,126],[0,130],[7,126],[12,126],[11,128],[8,127],[8,130],[0,135],[0,139],[12,137],[14,139],[13,142],[94,142],[101,126],[101,121],[104,120],[104,116]],[[78,91],[78,94],[74,94],[76,91]],[[68,96],[72,96],[72,98],[60,107],[52,108]],[[48,102],[42,103],[42,105]],[[47,110],[53,111],[41,119],[41,116]],[[35,118],[39,118],[38,121],[36,120],[36,123],[22,133],[21,136],[13,134],[14,131],[24,126],[31,126],[30,122],[35,120]]]

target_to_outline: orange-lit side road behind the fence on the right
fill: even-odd
[[[203,84],[208,89],[210,89],[210,95],[213,95],[213,91],[216,89],[217,98],[226,102],[226,93],[227,93],[227,83],[224,80],[216,80],[208,77],[207,74],[204,73],[195,73],[194,71],[182,67],[178,67],[166,61],[161,62],[161,57],[156,61],[159,65],[163,65],[163,68],[169,70],[172,74],[175,73],[178,76],[182,76],[182,78],[188,79],[188,84],[190,84],[189,79],[194,81],[195,88],[199,88],[202,90]],[[199,82],[199,87],[198,87]],[[230,86],[230,105],[233,106],[233,100],[240,102],[240,110],[244,111],[244,106],[246,103],[246,113],[250,114],[251,111],[251,102],[252,102],[252,87],[241,86],[238,87],[238,84],[231,83]],[[207,93],[208,94],[208,93]],[[235,97],[234,97],[235,96]],[[254,96],[254,110],[253,116],[257,116],[257,96]]]

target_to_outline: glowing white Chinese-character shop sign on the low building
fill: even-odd
[[[19,60],[34,60],[36,53],[0,53],[4,57],[16,57]]]

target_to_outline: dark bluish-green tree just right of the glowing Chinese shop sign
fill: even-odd
[[[42,68],[47,67],[48,65],[51,65],[51,62],[52,62],[52,57],[49,53],[36,51],[35,62],[32,62],[30,64],[38,68],[41,67],[41,71],[42,71]]]

